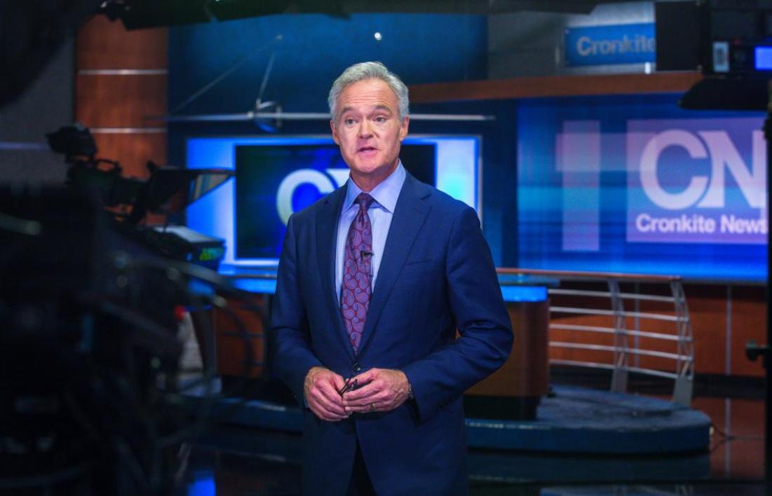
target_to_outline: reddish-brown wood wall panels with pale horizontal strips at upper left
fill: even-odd
[[[91,128],[99,157],[127,177],[147,177],[147,160],[166,164],[167,29],[127,32],[97,15],[76,37],[76,120]]]

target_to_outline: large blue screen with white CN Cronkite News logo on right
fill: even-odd
[[[521,267],[766,278],[762,116],[690,112],[676,100],[520,104]]]

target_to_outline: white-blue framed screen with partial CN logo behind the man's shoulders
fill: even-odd
[[[188,167],[236,170],[188,207],[191,228],[225,239],[226,264],[276,263],[289,215],[348,178],[330,137],[196,137],[186,148]],[[478,137],[408,137],[400,157],[419,180],[479,210]]]

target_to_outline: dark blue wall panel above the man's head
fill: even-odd
[[[169,106],[177,113],[251,110],[272,56],[262,100],[295,112],[327,110],[330,85],[355,62],[384,62],[406,84],[483,79],[487,40],[485,15],[292,14],[174,26]]]

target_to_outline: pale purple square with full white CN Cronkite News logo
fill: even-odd
[[[627,239],[763,245],[759,119],[629,120]]]

